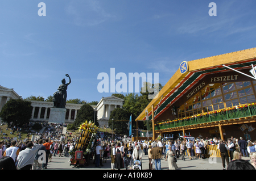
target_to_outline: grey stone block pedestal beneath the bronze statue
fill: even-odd
[[[65,123],[66,108],[51,108],[48,123]]]

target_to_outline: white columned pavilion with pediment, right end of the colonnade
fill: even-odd
[[[115,96],[110,97],[102,97],[100,102],[97,104],[97,117],[98,117],[98,124],[101,128],[108,127],[108,121],[110,117],[110,113],[115,108],[122,108],[123,107],[123,99],[117,98]]]

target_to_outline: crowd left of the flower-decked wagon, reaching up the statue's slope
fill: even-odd
[[[28,133],[28,137],[23,141],[0,140],[0,170],[42,170],[47,169],[52,157],[69,157],[69,148],[77,141],[77,136],[68,132],[68,136],[65,136],[62,124],[44,123],[42,126],[44,131],[34,132],[34,139],[30,138],[31,133]]]

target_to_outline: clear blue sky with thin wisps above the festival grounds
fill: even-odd
[[[38,15],[40,2],[46,16]],[[209,16],[210,2],[217,16]],[[67,99],[88,102],[112,95],[97,90],[98,74],[110,76],[110,68],[159,73],[165,85],[182,61],[256,47],[255,7],[253,0],[2,0],[0,85],[47,98],[69,74]]]

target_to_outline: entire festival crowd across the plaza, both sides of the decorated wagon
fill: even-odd
[[[72,132],[63,134],[62,124],[43,124],[44,131],[35,132],[34,140],[26,138],[23,141],[0,140],[0,170],[41,170],[47,169],[52,157],[69,157],[69,151],[74,149],[78,136]],[[220,138],[180,137],[162,140],[127,141],[121,136],[102,140],[99,138],[94,149],[96,167],[103,166],[111,158],[111,169],[161,170],[161,162],[168,162],[170,170],[176,170],[177,160],[208,158],[207,147],[216,146],[220,151],[223,169],[238,167],[234,162],[243,162],[241,157],[250,157],[250,166],[256,168],[256,141],[243,140],[242,137]],[[46,154],[42,154],[42,150]],[[148,157],[148,168],[142,167],[142,155]],[[43,157],[43,159],[42,159]],[[229,159],[230,158],[230,159]],[[43,160],[43,162],[41,162]],[[69,159],[70,160],[70,159]],[[249,162],[248,162],[249,163]],[[242,163],[241,163],[242,164]],[[240,164],[240,165],[241,165]],[[249,168],[249,167],[246,167]]]

